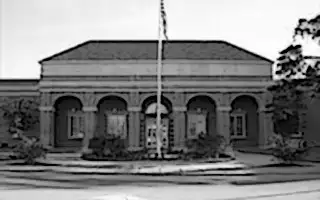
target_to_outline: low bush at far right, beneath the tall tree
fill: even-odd
[[[290,136],[280,134],[271,136],[268,145],[271,146],[269,149],[272,155],[282,163],[290,164],[306,155],[310,150],[310,146],[307,145],[306,141],[300,140],[302,145],[292,145],[292,141]]]

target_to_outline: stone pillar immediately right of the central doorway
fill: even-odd
[[[185,148],[186,142],[186,107],[173,107],[174,151]]]

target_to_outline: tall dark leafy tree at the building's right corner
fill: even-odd
[[[297,130],[299,110],[303,108],[306,96],[314,99],[320,91],[320,60],[312,61],[312,57],[303,54],[301,42],[305,39],[320,46],[320,15],[298,21],[292,44],[280,52],[275,63],[280,80],[268,88],[273,94],[273,103],[268,107],[278,133]]]

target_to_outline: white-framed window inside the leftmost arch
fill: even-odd
[[[68,139],[81,139],[84,137],[84,114],[81,111],[68,113]]]

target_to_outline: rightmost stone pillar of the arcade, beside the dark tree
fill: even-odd
[[[267,145],[268,137],[273,134],[272,114],[266,113],[266,109],[259,110],[259,147],[263,148]]]

